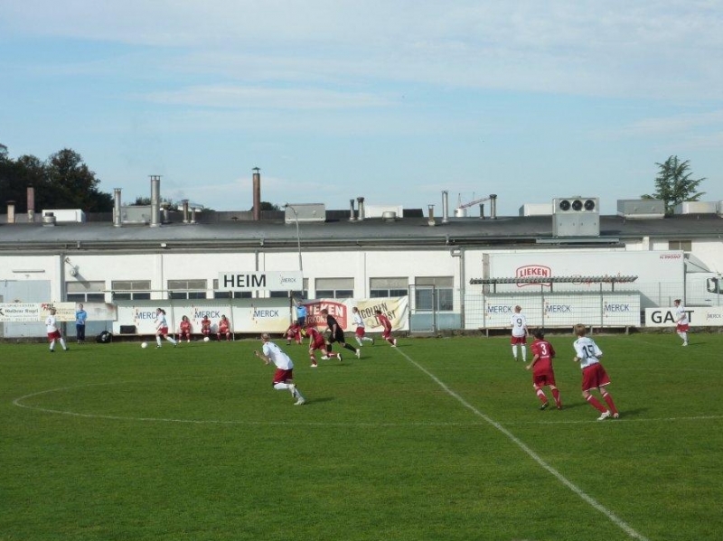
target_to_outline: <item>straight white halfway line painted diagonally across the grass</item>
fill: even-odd
[[[399,351],[399,354],[407,359],[414,367],[418,368],[429,378],[432,379],[439,387],[442,387],[442,389],[446,392],[447,395],[452,396],[455,398],[457,402],[459,402],[462,406],[465,406],[468,410],[470,410],[474,415],[477,415],[478,417],[484,419],[484,421],[488,424],[491,424],[494,428],[499,430],[502,434],[507,436],[512,443],[515,443],[520,449],[524,452],[526,452],[530,458],[540,464],[542,468],[549,471],[550,474],[552,474],[555,479],[559,480],[563,485],[568,487],[569,490],[572,490],[577,496],[579,496],[581,499],[583,499],[585,502],[587,502],[591,507],[596,508],[598,511],[600,511],[603,515],[605,515],[615,526],[622,529],[630,538],[632,539],[639,539],[640,541],[648,541],[648,538],[639,534],[636,532],[633,527],[630,527],[622,518],[619,518],[611,511],[610,509],[606,508],[604,505],[602,505],[600,502],[598,502],[596,499],[594,499],[592,496],[587,494],[585,490],[580,489],[575,483],[573,483],[571,480],[568,480],[564,475],[562,475],[559,471],[555,470],[552,466],[550,466],[547,462],[543,461],[539,454],[532,451],[530,447],[528,447],[525,443],[523,443],[517,436],[512,434],[509,430],[507,430],[502,424],[497,423],[494,419],[488,417],[487,415],[484,415],[480,410],[478,410],[476,407],[472,406],[469,402],[467,402],[462,396],[459,396],[455,391],[453,391],[451,388],[447,387],[445,382],[441,379],[437,378],[434,374],[432,374],[427,368],[424,368],[421,366],[417,361],[409,357],[404,351]]]

